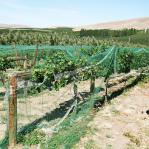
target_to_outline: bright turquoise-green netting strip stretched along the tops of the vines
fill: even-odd
[[[117,55],[121,55],[124,52],[131,52],[134,54],[134,59],[138,55],[149,54],[149,49],[145,48],[123,48],[116,47],[112,50],[113,47],[103,47],[103,46],[49,46],[49,45],[39,45],[38,46],[38,60],[40,58],[47,59],[54,51],[64,51],[68,59],[73,60],[77,63],[77,60],[80,58],[86,58],[88,64],[100,61],[103,59],[105,55],[107,55],[110,51],[111,54],[114,52],[114,49],[118,49],[115,57],[119,57]],[[25,56],[28,54],[30,57],[34,57],[34,51],[36,49],[36,45],[0,45],[0,56],[16,56],[16,51],[18,56]],[[110,55],[109,55],[110,56]],[[113,55],[114,56],[114,55]],[[105,63],[107,61],[105,60]]]

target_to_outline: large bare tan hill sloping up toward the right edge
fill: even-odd
[[[138,19],[129,19],[124,21],[113,21],[106,23],[98,23],[93,25],[85,25],[74,28],[74,31],[80,31],[81,29],[86,30],[95,30],[95,29],[112,29],[112,30],[121,30],[121,29],[149,29],[149,17],[138,18]]]

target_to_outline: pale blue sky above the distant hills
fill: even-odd
[[[0,0],[0,23],[78,26],[149,16],[149,0]]]

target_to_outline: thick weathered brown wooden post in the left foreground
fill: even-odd
[[[9,146],[14,147],[17,143],[17,77],[10,77],[10,99],[9,99]]]

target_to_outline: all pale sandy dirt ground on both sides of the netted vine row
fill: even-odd
[[[96,81],[96,86],[102,84]],[[90,82],[80,82],[79,92],[89,92]],[[38,96],[18,100],[18,128],[55,111],[73,98],[72,84],[59,91],[45,91]],[[2,101],[0,101],[2,105]],[[75,146],[77,149],[149,149],[149,83],[137,85],[102,107],[88,124],[91,133]],[[2,116],[5,111],[0,111]],[[52,116],[52,115],[50,115]],[[61,117],[54,117],[59,120]],[[50,119],[51,120],[51,119]],[[42,124],[46,119],[41,121]],[[49,122],[48,122],[49,123]],[[6,124],[0,124],[0,139]],[[39,124],[40,125],[40,124]],[[36,146],[37,147],[37,146]],[[36,148],[35,147],[35,148]],[[20,146],[21,148],[21,146]]]

